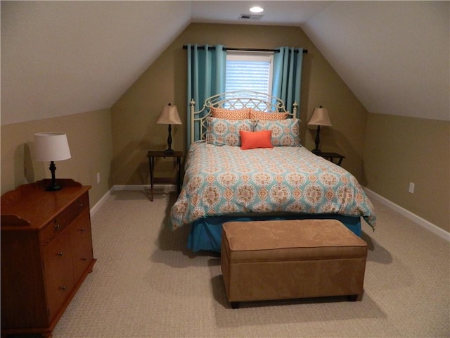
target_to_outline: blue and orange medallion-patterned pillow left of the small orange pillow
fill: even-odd
[[[217,146],[240,146],[240,130],[252,131],[254,120],[226,120],[208,117],[206,143]]]

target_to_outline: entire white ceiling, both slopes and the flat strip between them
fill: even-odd
[[[1,1],[1,124],[110,108],[189,23],[253,1]],[[259,1],[368,111],[450,120],[449,1]]]

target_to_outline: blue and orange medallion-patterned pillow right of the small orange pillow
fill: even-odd
[[[300,146],[300,120],[286,118],[285,120],[257,121],[255,131],[271,130],[271,142],[274,146]]]

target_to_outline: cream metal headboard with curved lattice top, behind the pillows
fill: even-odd
[[[253,92],[251,90],[236,90],[216,94],[205,99],[205,104],[200,111],[195,111],[195,101],[191,101],[191,143],[199,139],[205,139],[206,118],[210,115],[211,107],[240,109],[253,108],[266,113],[288,113],[290,118],[297,116],[297,102],[293,104],[293,111],[286,111],[283,100],[269,94]],[[198,133],[195,133],[198,129]]]

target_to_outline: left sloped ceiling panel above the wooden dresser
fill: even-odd
[[[189,1],[1,1],[1,124],[110,108],[190,20]]]

